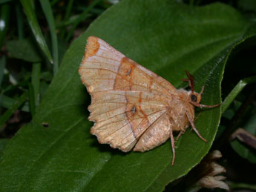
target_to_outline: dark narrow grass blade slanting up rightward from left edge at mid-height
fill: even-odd
[[[13,113],[25,102],[27,99],[27,91],[25,91],[22,96],[10,107],[5,113],[0,117],[0,128],[5,122],[13,115]]]

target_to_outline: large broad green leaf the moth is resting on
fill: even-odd
[[[73,42],[33,122],[20,129],[5,150],[1,190],[163,191],[208,153],[220,107],[205,110],[196,122],[209,142],[186,131],[177,143],[174,166],[169,141],[145,153],[122,153],[100,145],[89,133],[91,99],[77,73],[86,39],[99,36],[176,87],[186,85],[180,79],[188,70],[197,91],[206,85],[202,103],[213,105],[220,103],[220,82],[230,51],[255,31],[224,4],[192,7],[169,0],[115,4]]]

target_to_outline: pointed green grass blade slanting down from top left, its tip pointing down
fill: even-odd
[[[36,42],[39,44],[42,52],[45,53],[45,56],[47,56],[49,62],[53,63],[52,56],[50,55],[50,51],[45,42],[45,38],[42,35],[42,31],[40,30],[39,23],[36,19],[36,13],[33,10],[31,1],[21,0],[21,3],[24,8],[24,12],[27,15],[27,21],[29,22],[31,30],[33,31],[33,34],[36,38]]]

